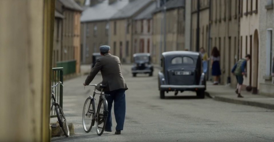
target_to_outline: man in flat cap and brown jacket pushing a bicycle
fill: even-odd
[[[114,115],[117,123],[115,134],[121,134],[126,115],[125,91],[128,87],[122,75],[120,59],[110,54],[110,46],[100,46],[100,53],[102,57],[97,59],[95,66],[83,84],[84,86],[90,84],[96,74],[101,71],[103,78],[102,84],[107,86],[103,91],[105,94],[110,95],[106,98],[108,102],[108,118],[105,131],[112,131],[111,109],[114,101]],[[99,87],[99,85],[97,87]]]

